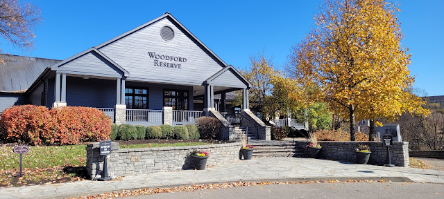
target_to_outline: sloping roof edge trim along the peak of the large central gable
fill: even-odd
[[[207,50],[208,53],[210,53],[212,56],[214,56],[217,61],[220,61],[223,66],[227,66],[228,64],[225,63],[225,61],[223,61],[220,57],[218,57],[216,54],[213,53],[212,50],[210,50],[210,48],[208,48],[207,46],[205,46],[205,44],[202,43],[202,41],[200,41],[199,39],[197,39],[196,36],[193,35],[193,33],[189,32],[189,30],[187,28],[185,28],[185,26],[182,25],[182,23],[180,23],[176,18],[173,17],[173,15],[171,15],[169,12],[166,12],[164,15],[157,17],[151,21],[148,21],[144,24],[142,24],[142,26],[138,26],[137,28],[133,28],[133,30],[129,30],[128,32],[125,32],[117,37],[114,37],[108,41],[105,41],[105,43],[100,44],[98,46],[96,46],[97,49],[103,48],[104,46],[107,46],[108,44],[111,44],[114,41],[117,41],[119,39],[122,39],[123,37],[126,37],[128,35],[133,34],[134,32],[137,32],[137,30],[141,30],[142,28],[145,28],[146,26],[150,26],[151,24],[155,23],[156,21],[160,21],[161,19],[164,18],[169,18],[172,21],[174,21],[174,23],[176,23],[180,28],[182,28],[183,30],[185,30],[185,32],[187,32],[188,35],[191,36],[191,38],[193,38],[195,41],[197,41],[197,43],[202,46],[205,50]]]

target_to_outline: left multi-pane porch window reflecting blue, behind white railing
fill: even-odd
[[[148,89],[125,88],[125,104],[129,109],[148,109]]]

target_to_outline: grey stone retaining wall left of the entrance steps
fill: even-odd
[[[187,155],[194,150],[207,151],[210,157],[207,166],[227,164],[239,160],[241,143],[210,144],[200,146],[176,146],[142,149],[119,149],[119,143],[112,142],[112,153],[108,155],[108,174],[155,173],[191,169]],[[87,144],[87,173],[94,179],[103,169],[103,156],[99,155],[99,142]]]

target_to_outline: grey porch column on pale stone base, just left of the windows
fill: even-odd
[[[125,79],[117,78],[116,106],[114,106],[114,117],[117,125],[126,124],[126,104],[125,104]]]

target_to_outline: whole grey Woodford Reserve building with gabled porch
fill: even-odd
[[[88,106],[117,124],[187,124],[203,114],[224,124],[225,93],[241,90],[242,115],[264,127],[248,109],[251,84],[169,13],[65,60],[0,56],[0,111]]]

